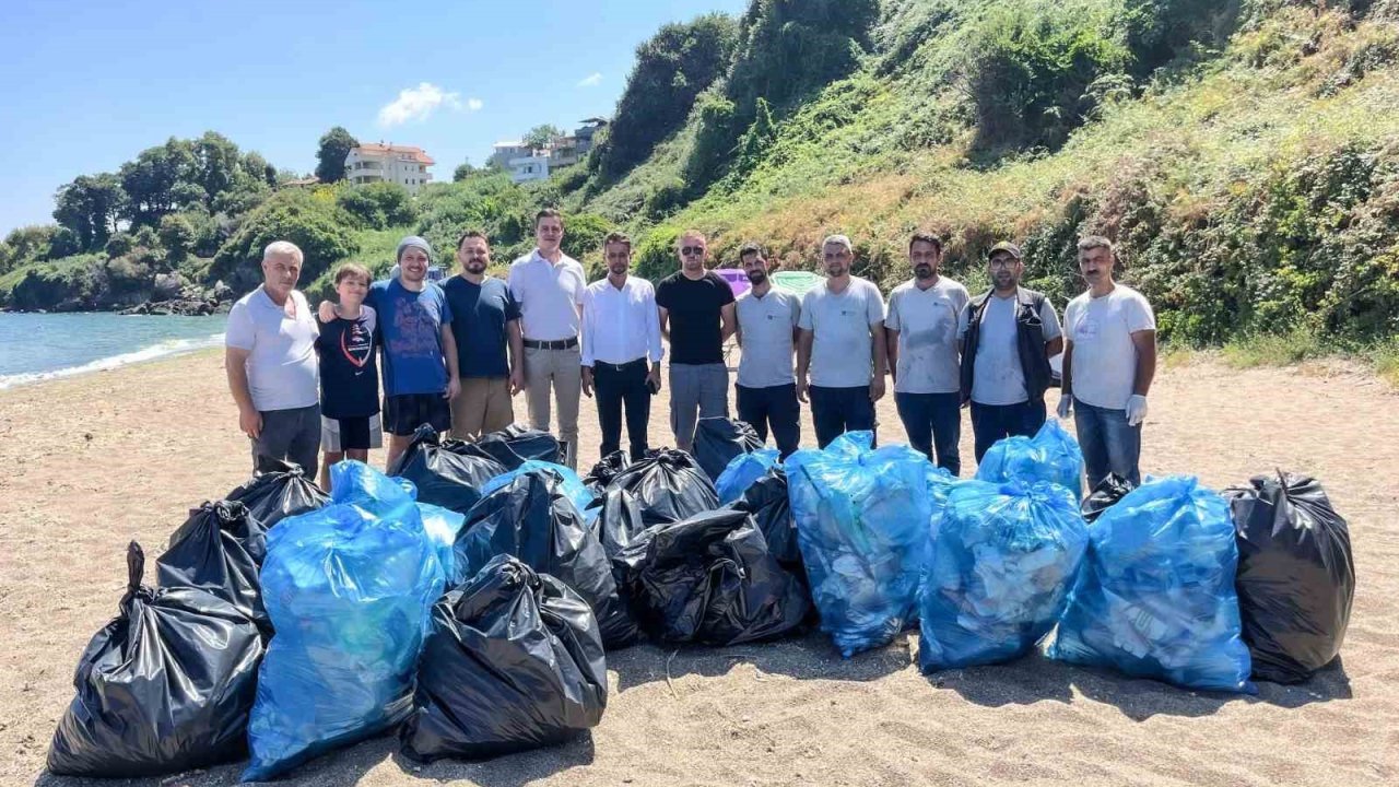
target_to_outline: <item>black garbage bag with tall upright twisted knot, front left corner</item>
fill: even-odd
[[[199,588],[141,585],[132,542],[120,613],[88,643],[49,746],[60,776],[165,776],[242,758],[257,690],[257,626]]]

